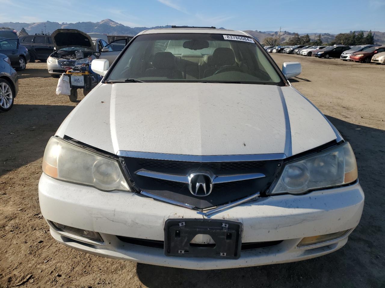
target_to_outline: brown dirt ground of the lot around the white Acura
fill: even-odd
[[[365,208],[348,243],[296,263],[194,271],[112,260],[50,237],[37,185],[45,144],[77,105],[56,96],[45,63],[19,73],[13,108],[0,114],[0,287],[385,287],[385,65],[273,55],[300,61],[291,82],[350,141]],[[80,97],[81,98],[81,97]],[[24,281],[23,281],[24,280]]]

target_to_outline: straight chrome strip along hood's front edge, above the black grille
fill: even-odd
[[[185,154],[122,151],[122,150],[119,150],[117,152],[117,156],[154,159],[154,160],[183,161],[183,162],[242,162],[242,161],[282,160],[287,158],[286,154],[284,153],[200,156],[200,155],[185,155]]]

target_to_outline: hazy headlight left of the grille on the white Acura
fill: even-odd
[[[55,179],[99,190],[130,191],[117,160],[57,137],[51,137],[45,147],[43,172]]]

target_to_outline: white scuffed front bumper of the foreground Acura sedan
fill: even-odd
[[[164,223],[173,218],[206,218],[183,207],[128,192],[102,192],[42,174],[40,209],[46,220],[99,232],[104,242],[57,230],[51,235],[60,243],[95,255],[152,265],[188,269],[219,269],[294,262],[333,252],[345,245],[360,221],[364,195],[358,184],[314,191],[305,195],[276,195],[247,202],[213,219],[243,223],[242,243],[271,242],[277,245],[241,252],[236,260],[166,257],[163,249],[126,243],[117,236],[164,240]],[[303,237],[349,230],[340,238],[297,247]]]

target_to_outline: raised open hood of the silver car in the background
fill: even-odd
[[[56,50],[80,47],[95,50],[90,35],[77,29],[57,29],[51,34]]]

